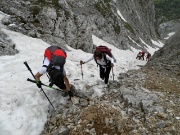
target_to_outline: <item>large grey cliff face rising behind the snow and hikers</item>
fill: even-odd
[[[92,34],[120,49],[156,40],[153,0],[1,0],[0,10],[11,15],[4,21],[15,24],[10,29],[87,52],[93,51]]]

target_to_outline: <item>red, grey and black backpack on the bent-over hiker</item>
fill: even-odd
[[[49,75],[49,81],[51,86],[54,83],[60,83],[64,81],[63,68],[66,62],[66,52],[58,46],[50,46],[44,52],[44,57],[47,57],[50,61],[47,67],[47,73]],[[54,68],[54,66],[60,66],[60,69]]]

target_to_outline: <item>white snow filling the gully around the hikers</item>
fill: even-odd
[[[120,11],[118,13],[121,14]],[[0,12],[0,20],[3,17],[8,17],[8,15]],[[27,78],[33,79],[33,77],[23,63],[26,61],[33,74],[37,73],[42,66],[44,50],[50,45],[41,39],[7,30],[1,23],[0,29],[16,44],[16,49],[19,51],[14,56],[0,57],[0,134],[39,135],[47,120],[48,110],[52,107],[40,89],[34,83],[27,81]],[[137,65],[146,64],[146,61],[135,59],[140,50],[134,48],[132,48],[133,51],[119,50],[95,35],[92,35],[92,39],[95,45],[106,45],[112,49],[117,60],[113,68],[115,80],[119,73],[138,69]],[[142,42],[144,41],[142,40]],[[160,41],[152,40],[152,42],[160,47],[163,46]],[[144,44],[146,43],[144,42]],[[92,57],[92,54],[69,46],[67,48],[65,68],[70,83],[82,92],[86,92],[87,85],[92,86],[91,90],[94,91],[92,98],[101,96],[104,84],[99,78],[99,69],[95,61],[82,66],[83,79],[81,76],[80,60],[86,61]],[[153,54],[158,48],[148,46],[147,49]],[[112,73],[110,80],[112,80]],[[46,75],[41,77],[41,81],[49,84]],[[43,89],[55,108],[66,104],[68,98],[62,97],[58,91],[46,87]]]

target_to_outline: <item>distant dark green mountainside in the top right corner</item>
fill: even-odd
[[[155,5],[155,29],[160,39],[168,37],[180,27],[179,0],[153,0]]]

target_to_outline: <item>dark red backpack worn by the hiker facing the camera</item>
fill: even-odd
[[[101,52],[103,54],[104,60],[106,62],[106,65],[110,64],[110,61],[106,59],[106,55],[105,55],[105,54],[107,54],[109,57],[111,57],[111,58],[113,57],[110,48],[108,48],[107,46],[100,45],[100,46],[96,47],[96,51]],[[97,63],[96,59],[95,59],[95,61]]]

